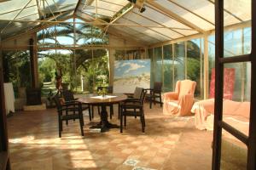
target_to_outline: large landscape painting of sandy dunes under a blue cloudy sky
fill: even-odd
[[[133,94],[136,87],[149,86],[150,59],[114,61],[113,93]]]

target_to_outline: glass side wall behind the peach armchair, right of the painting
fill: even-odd
[[[203,52],[202,39],[149,48],[151,59],[151,87],[154,82],[163,82],[163,92],[174,91],[178,80],[190,79],[196,82],[195,97],[203,96]]]

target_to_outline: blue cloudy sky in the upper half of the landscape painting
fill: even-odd
[[[114,61],[114,77],[130,77],[150,74],[150,59],[132,59]]]

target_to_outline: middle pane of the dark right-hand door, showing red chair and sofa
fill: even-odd
[[[224,65],[223,120],[248,135],[250,118],[251,64]]]

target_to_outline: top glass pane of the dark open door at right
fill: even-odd
[[[251,27],[252,0],[224,0],[224,26],[241,25]],[[224,27],[224,57],[251,53],[252,33],[248,28]],[[236,29],[236,30],[235,30]],[[244,50],[247,46],[247,50]]]

